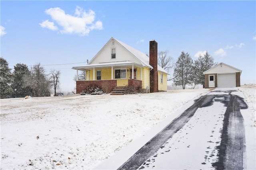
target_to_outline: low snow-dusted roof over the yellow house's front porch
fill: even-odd
[[[131,66],[131,65],[143,67],[143,66],[138,65],[138,64],[136,64],[134,62],[131,62],[131,61],[119,61],[119,62],[88,64],[86,66],[76,66],[76,67],[72,67],[72,69],[75,69],[75,70],[78,69],[78,70],[84,70],[85,71],[85,70],[92,70],[93,68],[99,68],[99,67]]]

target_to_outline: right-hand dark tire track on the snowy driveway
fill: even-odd
[[[245,133],[244,119],[240,112],[246,109],[247,105],[241,98],[230,95],[230,101],[223,120],[223,131],[221,143],[218,146],[218,162],[212,163],[217,170],[239,169],[244,166]]]

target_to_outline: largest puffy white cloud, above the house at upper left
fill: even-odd
[[[50,15],[52,20],[62,28],[61,33],[88,35],[93,29],[103,29],[101,21],[94,22],[94,11],[86,12],[79,6],[76,7],[74,16],[65,14],[65,11],[60,8],[50,8],[45,10],[45,13]]]

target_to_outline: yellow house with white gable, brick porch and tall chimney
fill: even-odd
[[[76,81],[76,94],[92,84],[110,93],[116,87],[132,85],[145,92],[166,92],[167,75],[157,64],[157,42],[150,41],[150,57],[110,38],[102,49],[85,66],[72,69],[86,71],[86,80]]]

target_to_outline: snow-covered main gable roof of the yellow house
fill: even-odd
[[[147,66],[149,68],[153,68],[150,64],[149,64],[149,57],[142,53],[141,51],[138,51],[137,49],[134,49],[133,47],[123,43],[122,41],[119,41],[118,39],[115,39],[113,37],[111,37],[108,42],[102,47],[102,49],[100,49],[100,51],[92,58],[92,60],[88,63],[88,65],[90,65],[90,63],[92,63],[92,61],[98,56],[99,53],[101,53],[101,51],[104,49],[104,47],[110,42],[110,41],[116,41],[119,45],[121,45],[122,47],[124,47],[124,49],[126,49],[131,55],[133,55],[136,59],[138,59],[138,61],[140,61],[140,63],[142,64],[142,66]],[[87,65],[87,66],[88,66]],[[160,67],[158,65],[158,71],[164,72],[166,74],[169,74],[168,72],[166,72],[166,70],[164,70],[162,67]]]

